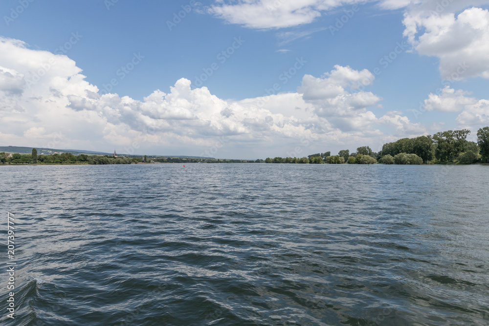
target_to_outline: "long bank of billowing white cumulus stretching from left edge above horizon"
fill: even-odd
[[[226,137],[218,157],[246,158],[263,157],[264,147],[285,156],[304,139],[357,145],[378,141],[381,126],[414,128],[400,113],[377,118],[368,110],[381,98],[360,89],[374,76],[348,66],[305,75],[299,92],[241,101],[192,89],[184,78],[143,101],[100,94],[67,56],[6,38],[0,66],[0,140],[12,145],[199,155]]]

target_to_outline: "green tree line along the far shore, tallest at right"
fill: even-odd
[[[267,157],[261,159],[237,160],[195,157],[113,157],[108,155],[73,155],[71,153],[31,154],[0,152],[1,164],[132,164],[132,163],[291,163],[291,164],[473,164],[489,163],[489,127],[477,131],[477,142],[467,141],[470,130],[447,130],[434,135],[402,138],[382,146],[379,152],[362,146],[356,152],[341,150],[337,155],[331,152],[314,153],[304,157]]]

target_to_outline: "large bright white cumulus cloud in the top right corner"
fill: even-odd
[[[489,78],[489,11],[473,7],[481,4],[489,1],[427,0],[405,13],[404,36],[418,53],[440,59],[442,78]]]

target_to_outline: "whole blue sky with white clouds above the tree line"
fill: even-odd
[[[265,158],[473,137],[488,4],[5,0],[0,143]]]

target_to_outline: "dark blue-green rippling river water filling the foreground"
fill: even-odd
[[[489,324],[488,166],[0,166],[0,183],[2,325]]]

